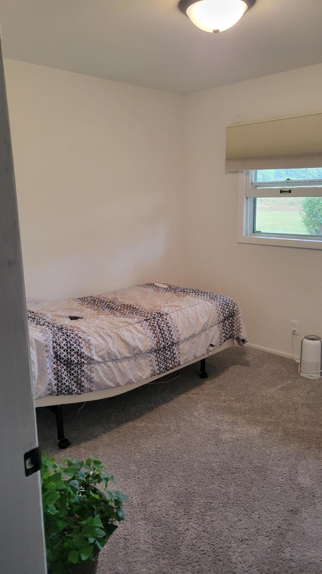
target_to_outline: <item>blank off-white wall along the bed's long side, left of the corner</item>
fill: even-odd
[[[182,95],[5,60],[27,296],[184,282]]]

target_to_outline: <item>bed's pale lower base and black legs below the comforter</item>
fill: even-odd
[[[49,396],[44,398],[37,398],[34,401],[36,408],[41,406],[46,406],[48,409],[52,410],[52,412],[56,415],[56,425],[57,425],[57,439],[58,439],[58,447],[59,448],[68,448],[70,442],[65,437],[64,433],[64,418],[62,413],[63,405],[72,404],[74,402],[86,402],[86,401],[98,401],[102,398],[109,398],[115,397],[121,393],[127,393],[127,391],[131,391],[136,389],[142,385],[147,385],[147,383],[151,383],[156,379],[166,377],[170,373],[174,373],[174,371],[178,371],[183,369],[183,367],[187,367],[189,364],[197,363],[200,361],[200,374],[199,376],[202,379],[206,379],[208,377],[206,371],[206,359],[211,356],[215,355],[219,351],[224,351],[225,349],[233,346],[234,339],[227,339],[225,343],[223,343],[220,347],[215,348],[207,355],[203,355],[198,357],[198,359],[191,360],[189,363],[184,363],[179,367],[175,367],[175,369],[171,369],[171,371],[167,371],[166,373],[162,373],[162,375],[156,375],[156,377],[150,377],[148,379],[144,379],[144,381],[140,381],[138,383],[129,383],[128,385],[119,386],[119,387],[110,387],[109,389],[101,390],[101,391],[92,391],[91,393],[84,393],[79,395],[55,395]]]

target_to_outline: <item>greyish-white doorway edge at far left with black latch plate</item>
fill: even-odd
[[[45,574],[25,288],[0,37],[0,571]],[[28,460],[24,460],[24,457]]]

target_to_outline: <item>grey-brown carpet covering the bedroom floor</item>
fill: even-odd
[[[37,410],[41,449],[94,455],[129,495],[100,574],[322,574],[321,380],[233,347],[174,381]]]

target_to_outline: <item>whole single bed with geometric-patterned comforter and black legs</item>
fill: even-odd
[[[112,397],[201,361],[246,333],[237,303],[222,294],[147,283],[97,296],[27,300],[36,408]]]

